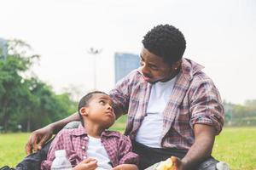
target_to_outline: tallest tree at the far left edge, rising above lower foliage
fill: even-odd
[[[25,48],[30,48],[25,42],[10,41],[7,59],[0,60],[0,120],[5,130],[8,130],[10,117],[20,110],[20,103],[29,96],[20,74],[29,70],[38,55],[26,56]]]

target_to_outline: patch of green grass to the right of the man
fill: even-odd
[[[226,127],[213,147],[216,159],[226,161],[232,170],[256,170],[256,127]]]

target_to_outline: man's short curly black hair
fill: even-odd
[[[174,26],[159,25],[144,36],[143,46],[152,54],[162,57],[170,64],[182,59],[186,48],[183,33]]]

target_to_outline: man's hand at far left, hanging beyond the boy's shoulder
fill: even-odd
[[[32,154],[33,151],[37,152],[38,150],[41,150],[43,145],[52,137],[52,135],[53,130],[50,126],[32,132],[25,146],[26,155]]]

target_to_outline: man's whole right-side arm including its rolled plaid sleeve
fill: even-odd
[[[224,107],[218,89],[211,79],[191,82],[189,124],[194,129],[195,143],[182,160],[177,158],[177,169],[191,169],[211,156],[215,135],[224,124]]]

